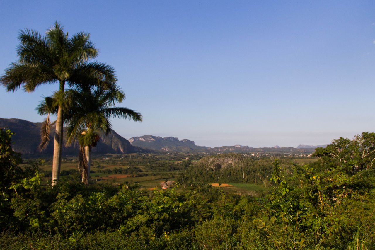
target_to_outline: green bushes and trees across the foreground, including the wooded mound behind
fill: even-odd
[[[206,157],[149,193],[78,178],[51,189],[0,131],[1,249],[375,249],[374,133],[335,140],[305,166]],[[239,196],[215,180],[271,191]]]

